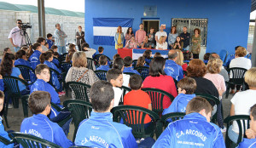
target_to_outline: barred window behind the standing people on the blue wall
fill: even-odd
[[[172,18],[172,26],[177,26],[177,34],[183,32],[183,26],[187,26],[190,36],[194,34],[195,28],[199,28],[201,31],[201,46],[207,46],[208,19]]]

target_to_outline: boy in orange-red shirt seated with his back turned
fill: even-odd
[[[130,77],[129,86],[131,92],[125,94],[124,105],[137,105],[152,111],[151,99],[149,95],[141,89],[143,88],[143,78],[137,74],[132,75]],[[151,118],[147,115],[144,123],[148,122],[151,122]]]

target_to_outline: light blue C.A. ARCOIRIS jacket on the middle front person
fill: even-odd
[[[75,145],[88,147],[136,148],[131,128],[113,122],[111,112],[91,112],[89,119],[80,122]]]

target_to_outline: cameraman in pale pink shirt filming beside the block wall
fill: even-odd
[[[17,26],[15,26],[10,32],[9,32],[9,42],[14,46],[15,52],[20,50],[20,47],[22,45],[26,45],[25,37],[22,38],[22,30],[21,30],[21,20],[16,20]],[[22,40],[22,43],[21,43]]]

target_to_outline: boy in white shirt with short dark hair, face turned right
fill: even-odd
[[[123,91],[120,87],[122,87],[124,80],[123,80],[123,73],[118,69],[111,69],[107,72],[107,80],[113,86],[114,92],[114,104],[113,106],[119,105],[119,101],[123,94]]]

